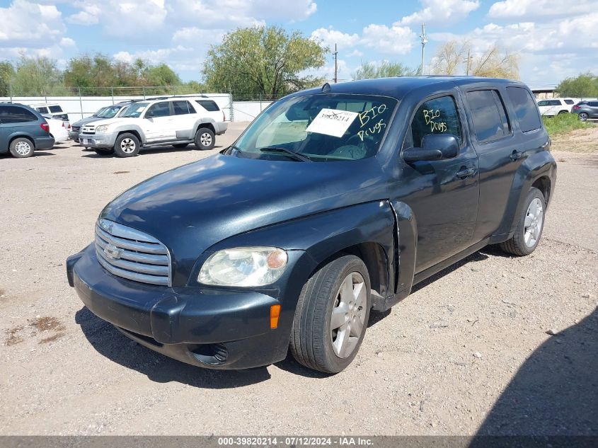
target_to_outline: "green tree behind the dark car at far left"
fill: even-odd
[[[21,57],[13,76],[13,95],[64,95],[62,71],[47,57]]]

